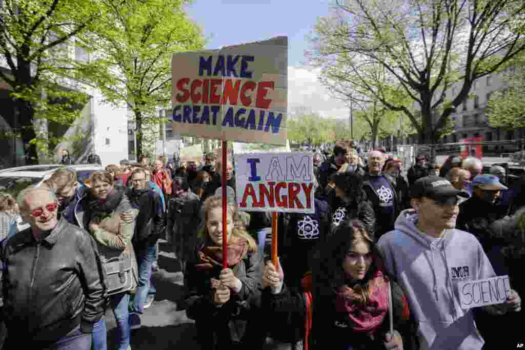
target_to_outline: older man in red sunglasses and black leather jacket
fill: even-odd
[[[89,350],[93,324],[105,310],[96,243],[58,220],[58,200],[49,189],[28,187],[17,202],[30,227],[2,249],[6,348]]]

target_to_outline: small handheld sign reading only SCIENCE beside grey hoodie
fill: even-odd
[[[463,309],[504,303],[510,295],[508,275],[458,283]]]

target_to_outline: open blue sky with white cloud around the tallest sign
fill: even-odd
[[[207,49],[288,36],[288,111],[307,107],[323,116],[347,118],[348,107],[333,99],[304,67],[306,36],[333,0],[194,0],[187,13],[201,25]]]

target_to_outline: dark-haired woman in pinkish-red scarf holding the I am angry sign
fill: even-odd
[[[262,277],[265,310],[280,319],[288,313],[304,315],[304,349],[417,348],[405,295],[384,272],[380,253],[362,222],[342,222],[317,259],[311,280],[303,281],[299,295],[289,292],[282,269],[277,271],[271,262]]]

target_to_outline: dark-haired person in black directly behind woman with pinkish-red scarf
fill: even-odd
[[[372,203],[366,199],[363,178],[356,173],[335,173],[330,177],[334,190],[329,204],[332,209],[331,232],[344,220],[359,219],[373,236],[375,214]]]

